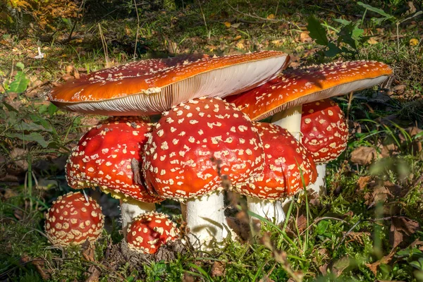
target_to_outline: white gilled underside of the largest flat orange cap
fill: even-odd
[[[274,78],[283,68],[286,56],[239,63],[200,73],[183,81],[154,87],[142,93],[98,102],[58,103],[64,109],[108,116],[150,115],[168,111],[171,106],[200,97],[226,97],[257,87]],[[123,80],[124,83],[124,80]]]

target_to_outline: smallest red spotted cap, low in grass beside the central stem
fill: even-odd
[[[140,214],[128,225],[126,242],[131,250],[154,254],[161,245],[179,237],[176,224],[165,214],[151,212]]]

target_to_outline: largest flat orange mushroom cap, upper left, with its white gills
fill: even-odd
[[[274,78],[287,61],[288,55],[281,51],[150,59],[66,82],[48,92],[47,99],[80,113],[149,116],[189,99],[250,90]]]

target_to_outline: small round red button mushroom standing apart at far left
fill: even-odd
[[[82,245],[94,242],[102,234],[102,208],[80,192],[70,192],[57,198],[46,215],[45,231],[54,245]]]

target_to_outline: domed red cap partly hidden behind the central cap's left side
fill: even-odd
[[[66,164],[74,189],[98,186],[123,201],[160,202],[142,185],[140,153],[151,125],[137,117],[109,118],[91,128],[73,148]]]

